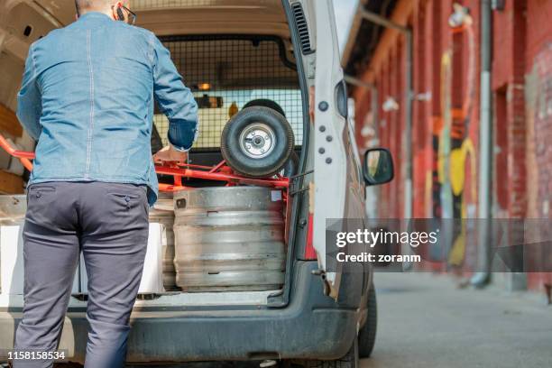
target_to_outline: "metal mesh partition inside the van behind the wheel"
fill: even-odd
[[[295,64],[275,37],[161,37],[199,108],[199,135],[194,149],[218,149],[230,116],[253,100],[281,106],[302,143],[302,102]],[[266,101],[264,101],[266,103]],[[154,123],[167,143],[168,122],[156,110]]]

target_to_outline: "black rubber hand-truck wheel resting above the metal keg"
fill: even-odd
[[[226,164],[236,172],[268,178],[290,159],[294,142],[283,115],[268,107],[247,107],[226,123],[220,149]]]

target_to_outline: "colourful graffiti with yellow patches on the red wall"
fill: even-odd
[[[458,48],[453,47],[443,53],[440,70],[442,115],[436,117],[433,122],[432,208],[433,215],[437,218],[475,216],[476,153],[474,143],[470,139],[475,97],[474,30],[470,23],[453,29],[453,32],[461,33],[467,41],[467,72],[454,68],[457,65],[455,58],[463,57],[461,52],[455,52]],[[462,37],[458,39],[464,40]],[[453,83],[457,73],[465,78],[465,96],[461,98],[461,106],[455,105],[453,95],[460,90],[455,88]],[[453,267],[462,266],[465,260],[468,239],[465,224],[461,224],[453,229],[450,239],[446,240],[446,244],[441,244],[441,249],[437,251],[446,254],[446,261]]]

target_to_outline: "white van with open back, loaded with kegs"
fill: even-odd
[[[375,338],[372,270],[346,270],[348,265],[327,270],[326,220],[364,218],[366,185],[387,182],[391,176],[373,178],[372,171],[361,166],[347,116],[331,0],[132,0],[131,5],[137,25],[155,32],[169,48],[198,100],[200,136],[190,154],[192,164],[216,165],[222,160],[224,126],[249,106],[285,116],[293,130],[292,156],[297,157],[284,170],[291,182],[285,198],[274,189],[232,188],[249,199],[256,193],[261,204],[282,202],[281,207],[260,210],[252,207],[251,199],[240,208],[251,222],[271,211],[267,244],[276,245],[270,249],[255,247],[264,235],[254,225],[233,233],[242,234],[235,244],[247,251],[228,251],[228,233],[213,233],[221,230],[212,224],[192,226],[200,222],[198,217],[180,217],[189,215],[184,209],[190,203],[205,205],[212,198],[217,209],[207,211],[207,216],[235,211],[236,200],[222,194],[230,189],[220,183],[190,179],[184,193],[161,196],[151,211],[127,361],[276,360],[309,367],[358,366],[359,356],[371,354]],[[3,111],[15,110],[29,45],[72,22],[74,13],[73,0],[0,3]],[[154,124],[159,135],[154,134],[152,147],[160,147],[166,143],[168,124],[161,113],[156,113]],[[4,126],[0,124],[0,130]],[[24,133],[18,136],[15,129],[3,134],[32,151],[33,143]],[[391,162],[385,150],[366,156],[370,154],[383,164]],[[16,161],[2,160],[3,169],[25,178]],[[170,180],[160,176],[161,183]],[[197,193],[203,197],[190,197]],[[263,197],[267,193],[269,199]],[[25,203],[24,195],[0,196],[0,354],[13,347],[22,316]],[[247,213],[252,208],[255,212]],[[179,226],[191,227],[179,235]],[[189,234],[196,243],[189,242]],[[199,249],[206,239],[208,257],[200,258],[198,253],[207,252]],[[82,262],[72,294],[60,349],[67,350],[69,361],[82,363],[87,334],[87,275]],[[0,356],[0,362],[5,358]]]

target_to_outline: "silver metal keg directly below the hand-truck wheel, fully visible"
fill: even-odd
[[[276,290],[285,271],[281,190],[174,194],[176,284],[185,291]]]

